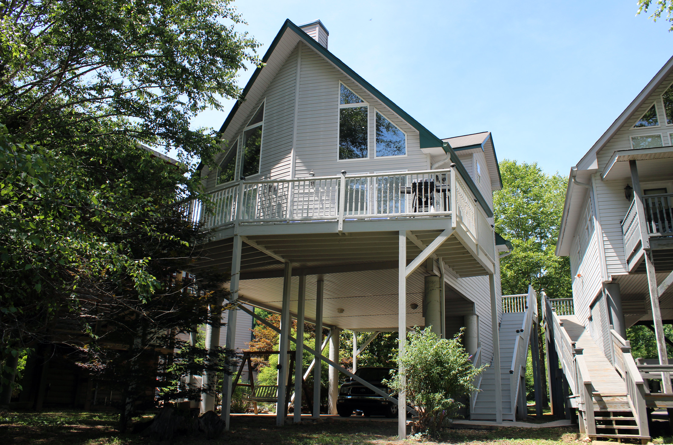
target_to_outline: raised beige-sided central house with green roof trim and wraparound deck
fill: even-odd
[[[513,418],[517,401],[525,407],[519,383],[535,316],[530,295],[514,297],[522,304],[503,316],[499,253],[511,246],[493,232],[501,178],[491,133],[440,139],[327,47],[319,20],[287,20],[229,113],[219,168],[202,170],[215,214],[205,219],[211,260],[199,267],[231,271],[232,300],[279,312],[281,326],[292,316],[329,328],[335,360],[340,330],[432,325],[451,336],[466,327],[468,352],[493,365],[482,379],[491,386],[470,401],[472,417]],[[529,327],[526,335],[512,327],[509,352],[499,357],[497,330],[507,316]],[[232,315],[228,330],[227,345],[238,342]],[[288,349],[281,335],[280,350]],[[493,371],[501,363],[502,382]],[[279,407],[287,358],[281,364]],[[337,381],[330,366],[332,413]],[[510,381],[519,397],[509,397]]]

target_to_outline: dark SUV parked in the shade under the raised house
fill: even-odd
[[[390,394],[390,388],[383,384],[381,380],[390,378],[392,368],[359,368],[355,375],[367,382],[381,388]],[[339,388],[339,398],[336,399],[336,412],[341,417],[349,417],[353,411],[362,411],[365,416],[385,415],[386,417],[397,417],[397,405],[381,397],[373,390],[363,386],[355,380],[347,381]]]

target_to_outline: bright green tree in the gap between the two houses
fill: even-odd
[[[553,298],[572,296],[570,260],[556,256],[566,180],[537,163],[500,162],[503,189],[493,197],[495,230],[511,241],[500,261],[503,295],[525,294],[528,285]]]

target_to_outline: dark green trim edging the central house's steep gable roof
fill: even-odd
[[[273,50],[276,48],[278,43],[280,42],[281,38],[283,37],[283,34],[285,34],[285,30],[287,29],[293,30],[299,37],[304,39],[304,42],[311,46],[314,50],[318,51],[321,55],[323,55],[328,61],[333,63],[337,68],[341,69],[341,71],[345,72],[347,75],[349,75],[354,81],[359,83],[365,90],[367,90],[372,96],[376,97],[378,100],[380,100],[383,104],[385,104],[390,110],[395,112],[400,118],[404,119],[409,125],[414,127],[418,132],[419,132],[419,142],[421,145],[421,148],[431,148],[431,147],[443,147],[444,151],[446,153],[451,154],[451,160],[454,162],[458,168],[458,172],[460,173],[460,176],[462,176],[463,180],[467,182],[468,187],[474,193],[474,196],[476,197],[477,201],[479,201],[479,204],[481,207],[484,209],[486,212],[486,215],[488,217],[493,216],[493,211],[487,204],[486,200],[484,197],[481,195],[481,192],[479,189],[477,189],[476,184],[474,184],[474,181],[468,174],[467,170],[465,170],[465,167],[462,165],[462,162],[460,162],[460,159],[458,159],[458,155],[456,155],[456,152],[451,148],[451,145],[448,143],[442,141],[439,139],[439,137],[435,136],[431,131],[429,131],[427,128],[423,127],[421,123],[419,123],[415,118],[411,117],[409,114],[406,113],[406,111],[402,110],[397,104],[392,102],[389,98],[387,98],[382,92],[374,88],[374,85],[371,85],[371,83],[367,82],[365,79],[360,77],[359,74],[357,74],[353,69],[351,69],[348,65],[343,63],[341,59],[338,57],[334,56],[332,53],[330,53],[327,48],[316,42],[311,36],[306,34],[302,28],[299,28],[297,25],[293,24],[289,19],[285,20],[285,23],[281,27],[281,30],[276,34],[276,37],[273,39],[273,42],[271,42],[271,46],[269,46],[269,49],[267,50],[267,53],[264,53],[264,57],[262,57],[262,62],[266,63],[267,60],[269,60],[269,57],[271,57],[271,54],[273,53]],[[219,129],[219,133],[224,133],[229,127],[229,123],[231,123],[232,119],[234,118],[234,115],[236,114],[236,111],[238,111],[238,108],[243,100],[246,100],[246,96],[248,92],[250,92],[250,88],[252,88],[252,85],[256,81],[257,77],[259,76],[259,73],[264,69],[264,67],[258,67],[255,69],[254,73],[252,73],[252,77],[250,77],[250,80],[246,84],[245,88],[243,89],[243,92],[241,93],[241,98],[236,101],[236,104],[234,104],[234,107],[232,108],[232,111],[229,112],[229,115],[227,116],[226,120],[222,124],[222,127]]]

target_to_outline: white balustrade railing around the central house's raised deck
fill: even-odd
[[[493,228],[470,189],[451,169],[240,180],[209,193],[205,228],[238,224],[449,217],[495,258]]]

